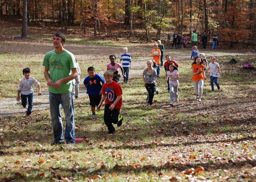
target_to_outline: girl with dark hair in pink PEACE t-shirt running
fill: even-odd
[[[120,63],[115,62],[117,58],[114,54],[109,56],[110,63],[107,64],[107,70],[111,70],[113,72],[113,81],[118,82],[119,78],[121,77],[120,73],[118,73],[117,69],[120,68],[122,75],[124,77],[124,80],[126,80],[126,76],[124,74],[123,67],[120,65]]]

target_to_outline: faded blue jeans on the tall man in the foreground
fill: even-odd
[[[60,106],[62,105],[65,117],[65,140],[67,143],[75,143],[75,122],[74,122],[74,103],[73,94],[70,93],[51,93],[49,92],[51,122],[53,124],[53,143],[64,142],[63,124],[60,113]]]

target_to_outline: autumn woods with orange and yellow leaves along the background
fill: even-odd
[[[2,0],[1,16],[24,17],[23,6],[20,0]],[[206,30],[210,41],[217,30],[219,40],[231,47],[255,42],[255,0],[28,0],[27,20],[28,26],[39,20],[42,27],[57,20],[65,31],[80,25],[84,34],[99,37],[165,40],[174,31],[191,35],[196,30],[200,36]],[[119,30],[114,33],[113,27]]]

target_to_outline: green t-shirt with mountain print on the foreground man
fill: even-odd
[[[59,79],[68,77],[71,75],[71,69],[77,68],[75,56],[67,50],[60,54],[57,54],[55,50],[46,53],[43,66],[49,68],[50,79],[53,83]],[[70,80],[68,82],[63,82],[58,89],[54,86],[49,86],[49,92],[69,93],[72,91],[72,88],[72,80]]]

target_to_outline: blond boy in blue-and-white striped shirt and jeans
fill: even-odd
[[[128,78],[129,78],[129,69],[131,69],[132,66],[132,59],[131,59],[131,55],[127,54],[128,48],[124,47],[123,48],[124,54],[121,55],[120,58],[120,62],[122,62],[122,66],[123,66],[123,70],[124,70],[124,74],[126,76],[126,79],[124,79],[125,83],[128,83]]]

